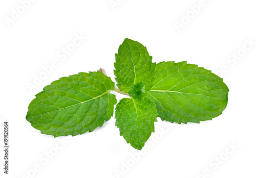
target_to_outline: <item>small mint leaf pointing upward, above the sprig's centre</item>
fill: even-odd
[[[156,73],[156,63],[152,63],[152,56],[146,47],[127,38],[118,49],[114,66],[117,86],[125,93],[129,92],[133,84],[140,82],[150,88]]]

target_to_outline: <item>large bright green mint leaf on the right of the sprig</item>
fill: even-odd
[[[211,120],[227,106],[228,87],[216,74],[186,62],[161,62],[148,91],[162,120],[177,123]]]

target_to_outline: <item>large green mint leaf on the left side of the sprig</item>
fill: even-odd
[[[42,134],[54,137],[92,132],[113,116],[114,85],[99,71],[60,78],[36,94],[26,118]]]

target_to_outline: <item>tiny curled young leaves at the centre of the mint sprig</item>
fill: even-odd
[[[146,96],[145,83],[140,82],[137,84],[133,84],[128,94],[137,100],[141,100],[144,96]]]

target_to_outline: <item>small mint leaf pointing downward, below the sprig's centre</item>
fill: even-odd
[[[141,101],[123,98],[116,106],[116,126],[120,136],[134,148],[141,150],[144,143],[155,132],[154,122],[157,121],[155,104],[144,98]]]

